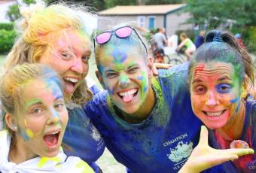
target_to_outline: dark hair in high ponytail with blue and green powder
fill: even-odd
[[[251,56],[236,42],[236,38],[230,32],[212,30],[206,35],[206,43],[194,53],[190,62],[189,77],[191,79],[192,68],[199,62],[227,62],[233,65],[235,74],[242,82],[245,74],[254,83],[254,65]]]

